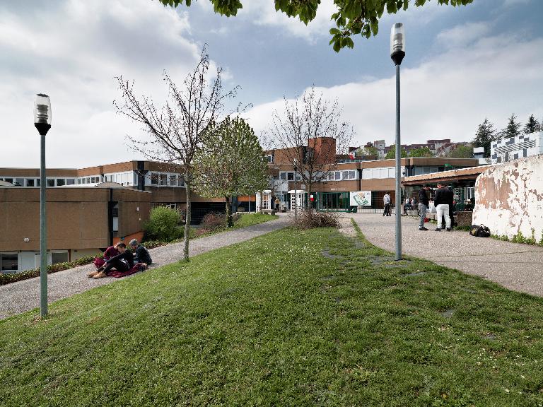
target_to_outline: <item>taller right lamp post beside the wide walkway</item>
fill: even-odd
[[[402,23],[395,23],[390,30],[390,58],[396,66],[396,260],[402,259],[402,192],[400,189],[402,154],[399,137],[399,66],[405,57],[405,31]]]

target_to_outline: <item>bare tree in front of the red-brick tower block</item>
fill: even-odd
[[[338,155],[346,153],[354,136],[348,122],[341,121],[342,108],[317,95],[315,87],[306,90],[301,100],[284,99],[284,112],[276,110],[264,138],[281,148],[284,159],[298,168],[297,174],[307,186],[308,194],[315,182],[333,181]],[[309,201],[311,206],[311,202]]]

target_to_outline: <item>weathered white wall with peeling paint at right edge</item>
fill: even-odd
[[[494,235],[542,239],[543,155],[510,161],[483,172],[475,182],[474,225]]]

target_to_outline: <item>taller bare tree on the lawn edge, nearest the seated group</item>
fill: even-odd
[[[150,160],[160,161],[177,169],[185,179],[187,215],[185,222],[185,246],[183,258],[189,259],[189,228],[192,204],[192,179],[194,155],[202,145],[202,139],[223,110],[225,98],[233,97],[235,89],[223,93],[222,69],[217,67],[216,76],[209,74],[209,55],[202,49],[196,68],[190,72],[182,87],[178,87],[168,73],[163,78],[168,86],[168,100],[156,107],[147,96],[134,93],[134,82],[117,77],[122,92],[122,103],[114,100],[117,112],[134,122],[141,123],[148,138],[127,136],[134,150]]]

